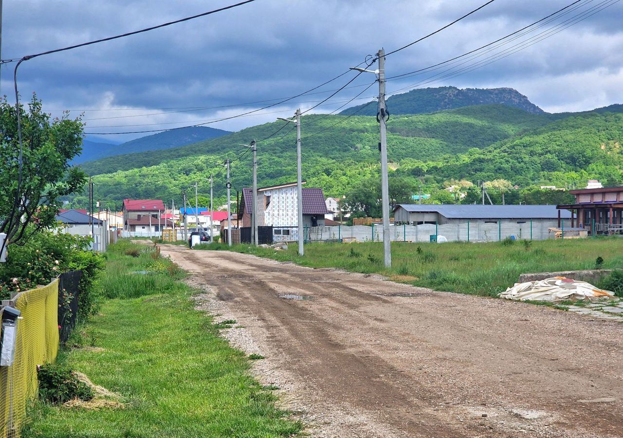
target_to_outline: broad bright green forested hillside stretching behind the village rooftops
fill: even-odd
[[[209,193],[225,193],[221,166],[232,158],[234,191],[250,185],[250,154],[240,143],[261,140],[282,122],[265,123],[218,140],[163,151],[106,158],[85,164],[96,183],[96,199],[179,199],[199,182]],[[379,175],[378,124],[374,117],[308,115],[302,119],[303,178],[327,196],[357,190]],[[478,105],[426,115],[392,116],[388,122],[391,176],[416,185],[439,186],[452,179],[474,183],[508,179],[521,187],[583,184],[598,178],[621,183],[623,115],[587,112],[560,118],[504,105]],[[295,181],[295,133],[283,130],[258,143],[260,186]],[[115,170],[120,169],[115,172]],[[113,173],[115,172],[115,173]],[[235,192],[234,192],[235,197]],[[84,199],[78,197],[78,201]],[[178,202],[178,201],[176,201]]]

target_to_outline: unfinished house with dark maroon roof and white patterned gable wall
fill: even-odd
[[[303,188],[302,194],[303,226],[325,226],[325,214],[328,211],[322,189]],[[238,211],[241,227],[251,226],[252,200],[252,189],[242,189],[242,199]],[[297,205],[297,183],[259,188],[257,189],[257,225],[272,226],[274,240],[297,240]]]

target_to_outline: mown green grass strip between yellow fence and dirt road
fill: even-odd
[[[125,255],[140,249],[140,255]],[[107,253],[98,315],[59,357],[120,394],[119,409],[88,411],[36,402],[24,437],[283,437],[302,429],[249,374],[250,359],[219,337],[222,325],[194,309],[184,272],[147,245]],[[150,274],[132,274],[148,271]],[[79,339],[78,339],[79,338]],[[92,348],[93,346],[97,348]]]

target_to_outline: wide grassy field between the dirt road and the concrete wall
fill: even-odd
[[[233,250],[313,268],[339,268],[447,292],[497,297],[520,274],[623,267],[623,239],[597,237],[502,242],[392,242],[392,267],[383,265],[383,244],[314,242],[298,255],[297,244],[287,250],[248,244],[206,244],[197,249]],[[597,263],[601,257],[602,263]]]

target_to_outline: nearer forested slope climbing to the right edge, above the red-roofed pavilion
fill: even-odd
[[[623,181],[622,142],[623,114],[583,113],[482,150],[428,163],[426,172],[437,178],[505,178],[524,186],[582,184],[588,178],[614,185]]]

